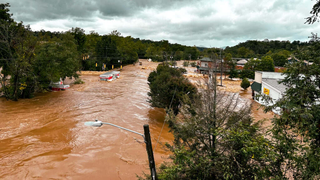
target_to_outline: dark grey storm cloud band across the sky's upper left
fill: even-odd
[[[167,9],[180,1],[149,1],[149,0],[8,0],[10,10],[16,19],[28,22],[39,20],[56,20],[65,18],[83,18],[86,20],[98,14],[105,17],[131,16],[145,8]]]

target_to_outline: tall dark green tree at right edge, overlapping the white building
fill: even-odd
[[[294,179],[319,179],[320,177],[320,38],[311,34],[308,48],[298,52],[300,57],[314,60],[292,63],[284,70],[281,83],[288,88],[283,97],[265,111],[282,110],[272,119],[273,146],[277,152],[274,164]],[[272,101],[268,97],[265,100]]]

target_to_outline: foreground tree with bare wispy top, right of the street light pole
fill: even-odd
[[[172,161],[160,166],[159,179],[268,179],[274,153],[260,133],[261,121],[254,123],[251,106],[239,103],[238,95],[219,91],[216,79],[204,81],[191,106],[179,116],[169,113]]]

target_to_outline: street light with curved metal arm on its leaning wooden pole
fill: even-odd
[[[95,121],[87,121],[84,123],[84,125],[87,125],[87,126],[99,126],[99,127],[102,126],[102,124],[108,124],[111,126],[115,126],[115,127],[130,131],[132,133],[141,135],[143,137],[144,143],[146,143],[146,150],[147,150],[147,154],[148,154],[150,174],[151,174],[151,177],[153,177],[153,180],[157,180],[158,177],[156,176],[156,163],[155,163],[155,160],[153,157],[149,125],[148,124],[143,125],[143,129],[144,129],[144,135],[143,135],[141,133],[132,131],[132,130],[124,128],[124,127],[120,127],[120,126],[117,126],[117,125],[114,125],[111,123],[105,123],[102,121],[98,121],[98,119],[96,119]]]

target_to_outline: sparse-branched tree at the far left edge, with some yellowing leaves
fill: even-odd
[[[1,23],[0,37],[0,53],[4,58],[0,60],[1,73],[4,74],[2,76],[0,73],[2,92],[7,100],[17,101],[20,97],[30,97],[28,88],[32,87],[29,81],[34,79],[31,63],[37,44],[36,37],[29,26],[15,21]]]

